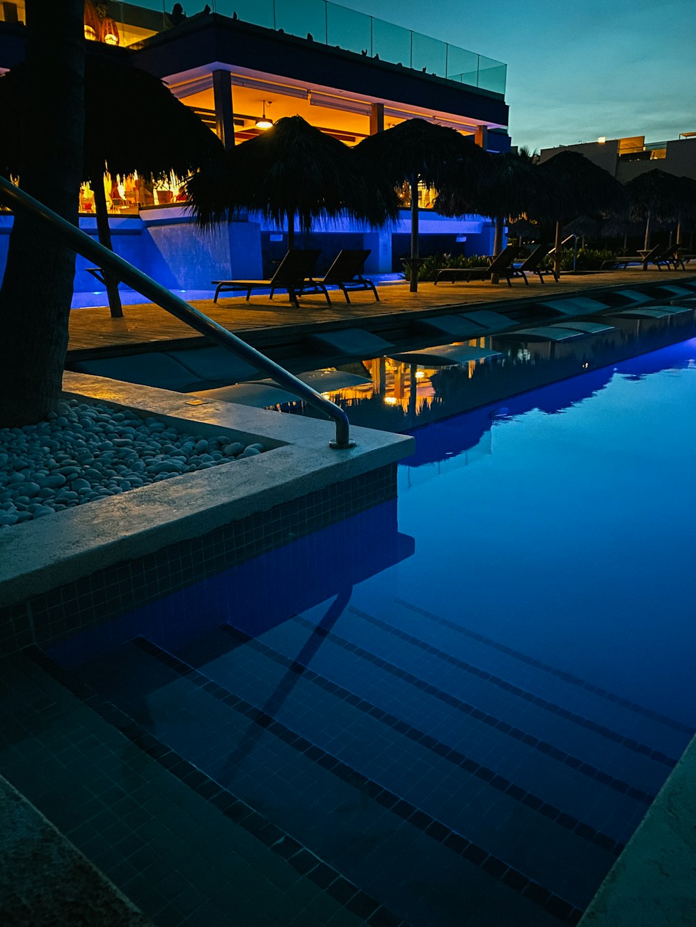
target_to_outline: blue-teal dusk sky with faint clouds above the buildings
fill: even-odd
[[[513,145],[696,132],[694,0],[339,2],[504,61]]]

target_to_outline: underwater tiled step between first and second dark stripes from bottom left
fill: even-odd
[[[478,924],[482,912],[501,927],[578,920],[546,887],[147,641],[83,672],[162,743],[416,927]]]

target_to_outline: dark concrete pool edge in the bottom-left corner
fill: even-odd
[[[152,927],[50,821],[0,777],[0,921]]]

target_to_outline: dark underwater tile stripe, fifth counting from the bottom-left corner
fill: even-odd
[[[574,724],[579,725],[581,728],[586,728],[586,730],[591,730],[593,733],[599,734],[601,737],[605,737],[607,740],[612,741],[612,743],[620,743],[628,750],[632,750],[634,753],[638,753],[641,756],[648,756],[650,759],[655,760],[655,762],[663,763],[664,766],[667,766],[670,769],[677,766],[677,760],[673,756],[666,756],[664,753],[662,753],[662,751],[653,750],[645,743],[640,743],[631,737],[625,737],[623,734],[620,734],[618,731],[612,730],[611,728],[605,728],[603,724],[598,724],[597,721],[593,721],[588,717],[577,715],[574,711],[570,711],[568,708],[563,708],[561,705],[556,705],[554,702],[549,702],[548,699],[535,695],[534,692],[526,692],[526,690],[521,689],[520,686],[513,685],[511,682],[508,682],[506,679],[501,679],[499,676],[494,676],[493,673],[489,673],[485,669],[474,667],[472,664],[467,663],[465,660],[460,660],[457,656],[447,654],[445,651],[439,650],[437,647],[432,646],[432,644],[429,644],[426,641],[421,641],[419,638],[406,633],[406,631],[394,628],[393,625],[387,624],[386,621],[381,621],[378,617],[368,615],[367,612],[363,612],[360,609],[354,607],[350,608],[350,611],[353,612],[354,615],[358,615],[365,621],[368,621],[376,628],[380,628],[381,630],[386,631],[388,634],[393,634],[394,637],[397,637],[402,641],[406,641],[407,643],[412,644],[414,647],[418,647],[419,650],[422,650],[427,654],[432,654],[432,656],[439,657],[440,659],[444,660],[445,663],[448,663],[453,667],[457,667],[458,669],[463,670],[465,673],[470,673],[472,676],[478,677],[478,679],[484,679],[486,682],[490,682],[492,685],[497,686],[498,689],[504,689],[505,692],[509,692],[510,695],[515,695],[518,698],[523,699],[525,702],[536,705],[537,708],[543,708],[545,711],[550,711],[554,715],[558,715],[566,721],[572,721]]]

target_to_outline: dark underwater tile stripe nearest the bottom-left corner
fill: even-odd
[[[174,663],[178,664],[180,661],[176,661],[173,656],[162,651],[159,647],[145,641],[143,638],[138,638],[135,643],[148,654],[160,659],[162,663],[181,672],[172,663],[174,661]],[[39,647],[32,645],[25,650],[25,654],[84,705],[92,709],[116,730],[119,730],[143,753],[156,760],[161,767],[171,772],[179,781],[184,782],[188,788],[199,794],[201,798],[219,808],[226,818],[251,833],[264,846],[267,846],[279,857],[289,862],[290,866],[299,875],[308,879],[326,895],[329,895],[334,901],[338,901],[356,916],[367,921],[370,927],[409,927],[406,921],[393,914],[388,908],[384,908],[379,901],[367,895],[354,883],[345,879],[340,872],[334,870],[319,857],[316,857],[303,844],[294,840],[276,824],[272,824],[262,814],[247,805],[246,802],[243,802],[206,773],[189,763],[183,756],[180,756],[165,743],[158,740],[146,728],[123,712],[121,708],[113,705],[108,699],[94,692],[81,679],[77,679],[70,672],[60,667],[55,660],[52,660]],[[181,667],[185,667],[187,671],[195,672],[186,664],[181,664]],[[189,672],[183,675],[190,678]],[[205,677],[202,679],[204,679],[203,684],[206,685],[206,691],[212,692],[210,680],[205,679]],[[192,679],[192,681],[200,684],[197,679]],[[219,697],[217,692],[213,691],[212,694]],[[262,724],[262,727],[265,726],[267,725]]]

